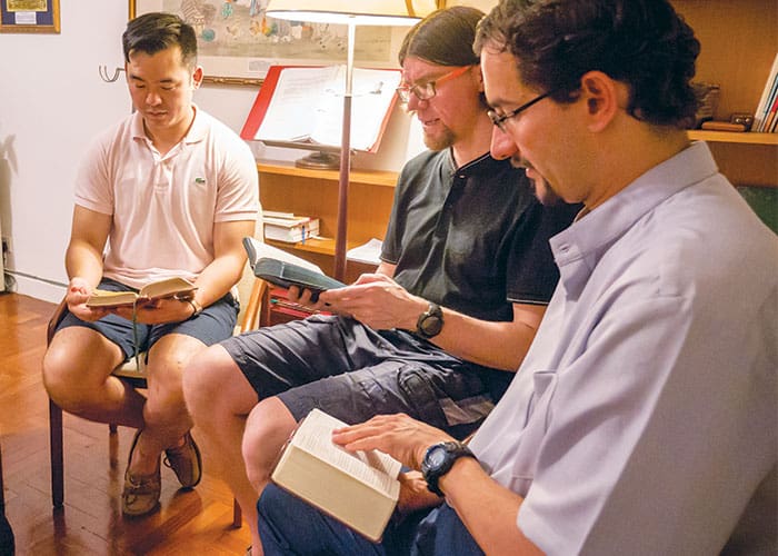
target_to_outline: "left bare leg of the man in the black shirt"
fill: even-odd
[[[183,395],[209,468],[232,489],[251,532],[253,554],[261,554],[257,492],[246,476],[241,454],[246,418],[257,405],[257,393],[225,348],[217,344],[200,351],[187,367]]]

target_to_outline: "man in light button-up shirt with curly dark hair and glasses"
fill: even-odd
[[[402,415],[336,431],[445,496],[408,474],[405,522],[348,553],[776,554],[778,238],[687,138],[694,32],[666,0],[502,0],[479,29],[492,156],[585,209],[467,447]],[[266,554],[343,543],[321,515],[286,526],[300,505],[265,490]]]

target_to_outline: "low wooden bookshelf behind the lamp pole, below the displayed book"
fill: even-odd
[[[263,209],[317,217],[320,220],[319,236],[325,238],[298,244],[268,240],[268,244],[315,262],[331,276],[338,218],[338,170],[311,170],[297,168],[293,162],[260,160],[257,171]],[[397,176],[397,172],[388,170],[351,170],[347,232],[349,249],[371,238],[383,239]],[[346,279],[353,280],[371,269],[369,265],[348,261]]]

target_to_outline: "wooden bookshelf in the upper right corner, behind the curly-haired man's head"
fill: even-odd
[[[721,86],[716,119],[754,113],[778,50],[778,2],[672,0],[702,46],[696,81]],[[691,130],[736,186],[778,187],[778,133]]]

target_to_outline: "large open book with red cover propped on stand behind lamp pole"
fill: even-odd
[[[351,148],[376,152],[389,121],[401,71],[355,68]],[[269,145],[341,145],[346,66],[271,66],[240,137]]]

